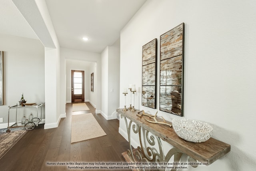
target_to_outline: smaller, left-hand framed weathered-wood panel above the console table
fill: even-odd
[[[156,109],[157,39],[142,46],[142,105]]]

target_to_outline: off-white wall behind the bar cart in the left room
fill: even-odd
[[[0,50],[3,51],[4,105],[0,105],[0,117],[4,128],[8,123],[8,106],[19,103],[21,93],[27,103],[45,101],[44,96],[44,46],[39,40],[0,34]],[[35,109],[18,111],[17,121]],[[16,110],[10,110],[10,122],[16,120]],[[45,118],[43,107],[42,119]],[[3,128],[0,126],[0,128]]]

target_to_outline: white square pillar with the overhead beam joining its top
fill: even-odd
[[[44,0],[26,3],[24,0],[12,0],[28,24],[34,30],[45,47],[45,124],[44,128],[58,127],[61,117],[60,108],[65,104],[60,101],[60,90],[63,84],[60,78],[60,45],[52,20]],[[24,5],[26,4],[26,5]]]

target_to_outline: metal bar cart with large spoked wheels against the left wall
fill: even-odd
[[[18,104],[14,105],[14,106],[8,106],[8,127],[6,132],[10,132],[10,128],[16,128],[16,127],[25,127],[26,130],[30,131],[32,129],[35,128],[35,126],[38,126],[38,123],[40,123],[42,121],[42,106],[45,103],[39,103],[39,104],[34,104],[34,105],[25,105],[25,106],[19,106]],[[17,121],[17,113],[18,113],[18,109],[24,109],[24,108],[31,108],[31,107],[36,107],[36,117],[32,118],[31,120],[28,120],[27,123],[21,124],[22,122],[18,122]],[[41,108],[41,116],[40,119],[38,117],[38,108]],[[10,123],[10,109],[16,109],[16,121],[13,125],[9,126]]]

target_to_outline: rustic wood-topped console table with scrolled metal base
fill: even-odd
[[[171,171],[176,171],[182,154],[190,157],[188,164],[191,164],[192,167],[197,167],[198,161],[204,165],[210,165],[230,151],[229,144],[214,138],[202,143],[193,143],[180,138],[170,126],[150,123],[145,120],[150,120],[148,116],[138,117],[136,111],[123,111],[122,109],[116,109],[116,111],[120,113],[121,118],[124,118],[126,123],[130,149],[122,153],[122,155],[128,163],[161,163],[161,167],[158,167],[158,169],[165,170],[164,168],[168,163],[172,163],[169,160],[174,156]],[[160,118],[158,119],[161,120]],[[137,147],[137,149],[132,149],[131,131],[139,136],[140,147]],[[169,151],[164,151],[162,141],[168,142],[173,148]],[[134,170],[146,170],[146,167],[133,168]]]

